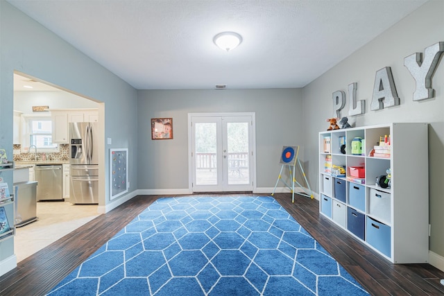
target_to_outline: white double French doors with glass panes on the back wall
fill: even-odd
[[[190,188],[253,191],[255,114],[189,114]]]

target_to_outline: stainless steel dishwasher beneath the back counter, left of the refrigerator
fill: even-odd
[[[62,191],[62,165],[35,166],[37,200],[64,200]]]

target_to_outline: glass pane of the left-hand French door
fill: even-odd
[[[216,123],[194,124],[196,129],[196,185],[216,185]]]

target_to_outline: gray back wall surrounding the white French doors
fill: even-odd
[[[282,146],[303,145],[300,89],[144,90],[138,98],[139,189],[188,189],[188,113],[255,112],[257,187],[275,186]],[[163,117],[173,118],[174,139],[152,141],[151,119]]]

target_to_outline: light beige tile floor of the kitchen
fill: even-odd
[[[37,202],[38,220],[17,228],[14,239],[17,262],[51,245],[97,216],[97,204]]]

